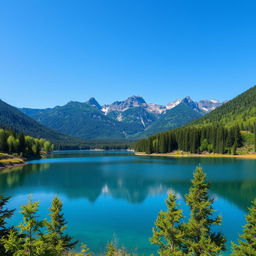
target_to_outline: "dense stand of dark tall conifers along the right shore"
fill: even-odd
[[[242,146],[240,128],[234,126],[183,127],[163,132],[134,144],[138,152],[168,153],[182,150],[190,153],[236,154]]]

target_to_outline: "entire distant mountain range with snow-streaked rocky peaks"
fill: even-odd
[[[190,97],[177,101],[175,106],[164,106],[148,104],[140,96],[103,106],[90,98],[54,108],[20,110],[57,132],[82,139],[136,139],[179,127],[206,113]]]

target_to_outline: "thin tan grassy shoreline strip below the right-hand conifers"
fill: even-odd
[[[134,152],[136,156],[161,156],[161,157],[208,157],[208,158],[243,158],[243,159],[256,159],[256,154],[245,155],[227,155],[227,154],[190,154],[186,152],[175,153],[152,153],[147,154],[145,152]]]

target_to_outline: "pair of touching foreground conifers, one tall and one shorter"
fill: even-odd
[[[182,211],[176,207],[173,193],[168,196],[167,212],[160,212],[153,229],[151,242],[160,246],[159,255],[219,255],[225,249],[225,238],[213,232],[221,224],[220,216],[214,217],[213,199],[209,198],[209,183],[202,168],[197,168],[192,187],[186,196],[190,218],[182,222]]]

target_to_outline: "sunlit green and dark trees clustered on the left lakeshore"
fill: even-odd
[[[42,152],[53,150],[53,144],[46,139],[38,139],[0,129],[0,152],[18,154],[21,157],[39,156]]]

